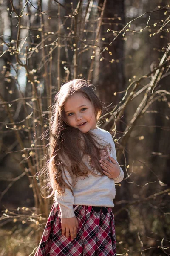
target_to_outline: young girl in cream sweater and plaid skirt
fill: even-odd
[[[51,121],[49,177],[55,201],[35,256],[115,256],[112,207],[124,173],[102,103],[87,81],[64,84]]]

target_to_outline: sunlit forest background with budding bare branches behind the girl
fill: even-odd
[[[170,255],[169,4],[0,0],[0,256],[34,255],[40,241],[51,105],[76,78],[96,87],[125,172],[117,255]]]

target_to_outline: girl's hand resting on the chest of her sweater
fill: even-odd
[[[120,174],[120,167],[113,157],[109,156],[109,159],[111,160],[111,162],[101,158],[101,160],[99,160],[100,166],[102,167],[103,172],[106,176],[108,176],[110,179],[115,179]]]

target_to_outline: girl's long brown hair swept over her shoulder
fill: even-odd
[[[90,131],[82,133],[78,128],[68,125],[64,106],[68,97],[76,92],[81,92],[84,97],[91,101],[96,115],[96,122],[103,111],[102,102],[97,97],[91,84],[84,79],[74,79],[62,85],[55,96],[50,129],[49,160],[49,178],[53,188],[52,194],[54,194],[55,189],[59,193],[61,191],[64,192],[65,186],[72,191],[73,184],[71,186],[68,180],[66,182],[63,179],[65,169],[69,172],[72,180],[75,180],[75,177],[78,176],[88,177],[89,172],[97,175],[83,163],[82,158],[84,155],[90,156],[94,160],[94,165],[100,176],[104,175],[99,164],[99,144],[95,135]]]

